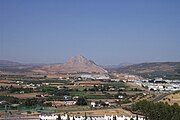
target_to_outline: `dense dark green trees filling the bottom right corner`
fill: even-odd
[[[132,110],[142,113],[147,120],[180,120],[180,106],[163,102],[142,100],[132,105]]]

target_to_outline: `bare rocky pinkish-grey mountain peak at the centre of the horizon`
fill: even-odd
[[[64,64],[46,65],[39,70],[59,73],[107,73],[105,69],[82,55],[72,57]]]

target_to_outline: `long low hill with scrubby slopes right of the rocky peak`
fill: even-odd
[[[150,78],[180,79],[180,62],[141,63],[114,70],[119,73],[138,74]]]

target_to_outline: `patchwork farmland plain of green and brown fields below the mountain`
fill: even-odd
[[[8,78],[0,81],[2,115],[4,104],[8,104],[9,111],[18,110],[21,115],[25,115],[24,111],[31,115],[50,111],[79,115],[86,112],[97,116],[102,113],[130,115],[131,113],[123,110],[121,106],[138,100],[140,96],[145,97],[141,94],[141,89],[123,81],[23,78],[22,76]],[[66,104],[71,104],[71,101],[77,101],[79,98],[84,98],[87,105]],[[91,106],[93,102],[96,103],[95,107]],[[13,107],[14,104],[17,106]]]

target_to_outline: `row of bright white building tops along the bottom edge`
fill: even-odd
[[[139,116],[68,116],[67,114],[60,116],[60,115],[40,115],[39,118],[41,120],[145,120],[144,117]]]

